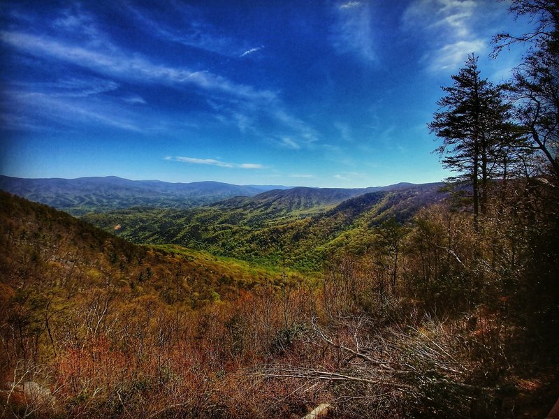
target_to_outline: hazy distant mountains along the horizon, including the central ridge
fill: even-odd
[[[438,184],[399,183],[369,188],[310,188],[282,185],[234,185],[205,181],[171,183],[160,180],[130,180],[122,177],[76,179],[26,179],[0,175],[0,189],[43,203],[75,216],[89,212],[126,210],[131,207],[187,210],[216,205],[228,210],[265,212],[268,217],[311,214],[374,191],[397,191]],[[249,200],[248,198],[253,198]]]

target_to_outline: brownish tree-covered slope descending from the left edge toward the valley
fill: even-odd
[[[269,272],[173,246],[144,247],[65,212],[0,191],[1,283],[72,298],[94,288],[124,298],[157,295],[197,307],[236,295]],[[9,291],[8,290],[12,290]]]

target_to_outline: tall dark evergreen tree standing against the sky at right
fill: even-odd
[[[472,184],[474,225],[486,214],[491,179],[498,175],[500,161],[511,139],[510,106],[500,87],[480,77],[477,57],[470,54],[465,67],[451,76],[453,84],[438,102],[439,110],[428,124],[443,142],[435,150],[446,168],[459,172],[451,182]]]

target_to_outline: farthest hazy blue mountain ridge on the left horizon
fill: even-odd
[[[73,215],[129,207],[186,209],[233,196],[255,196],[287,186],[242,186],[222,182],[170,183],[116,176],[24,179],[0,175],[0,189]]]

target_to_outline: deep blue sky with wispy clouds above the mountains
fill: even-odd
[[[154,6],[157,4],[157,6]],[[448,173],[426,124],[491,0],[3,1],[0,173],[361,187]]]

